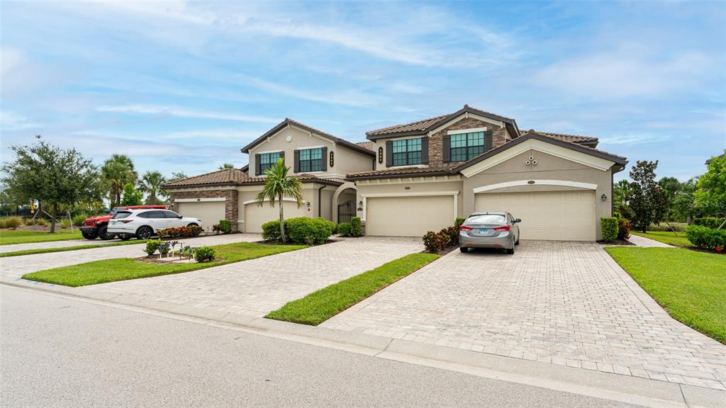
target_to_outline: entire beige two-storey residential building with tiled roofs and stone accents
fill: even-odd
[[[351,143],[285,119],[242,147],[249,165],[166,184],[174,209],[211,226],[261,232],[278,208],[258,206],[264,171],[280,158],[303,184],[305,205],[286,217],[359,216],[369,235],[420,236],[473,211],[509,211],[521,237],[599,240],[612,215],[613,174],[626,158],[597,138],[520,131],[510,118],[465,105],[449,115],[369,131]]]

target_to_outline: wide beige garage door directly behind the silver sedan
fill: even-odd
[[[476,211],[509,211],[522,219],[523,240],[595,240],[595,192],[508,192],[476,195]]]

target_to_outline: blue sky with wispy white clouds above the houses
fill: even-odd
[[[1,152],[247,163],[285,117],[357,142],[468,104],[688,179],[726,147],[724,2],[0,4]],[[626,176],[622,172],[619,176]]]

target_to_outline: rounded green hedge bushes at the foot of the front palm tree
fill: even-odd
[[[335,231],[335,224],[325,219],[297,217],[285,220],[285,236],[295,244],[318,245],[325,243]],[[280,220],[262,224],[262,237],[268,241],[280,240]]]

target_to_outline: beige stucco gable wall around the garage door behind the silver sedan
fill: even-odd
[[[537,165],[526,165],[526,160],[530,157],[537,160]],[[590,166],[584,166],[571,160],[558,158],[548,155],[537,150],[529,150],[517,155],[510,160],[500,163],[497,166],[488,168],[480,174],[476,174],[463,182],[463,211],[471,213],[474,211],[474,194],[473,189],[484,187],[490,184],[503,183],[506,181],[529,181],[529,180],[563,180],[576,181],[581,183],[597,184],[595,189],[595,226],[597,232],[595,236],[600,240],[602,234],[600,232],[600,217],[612,215],[612,197],[611,197],[611,171],[601,171]],[[567,186],[550,186],[550,185],[523,185],[515,187],[507,187],[501,189],[489,190],[489,192],[534,192],[534,191],[564,191],[579,189]],[[486,193],[484,193],[486,194]],[[601,200],[601,196],[605,194],[606,200]]]

